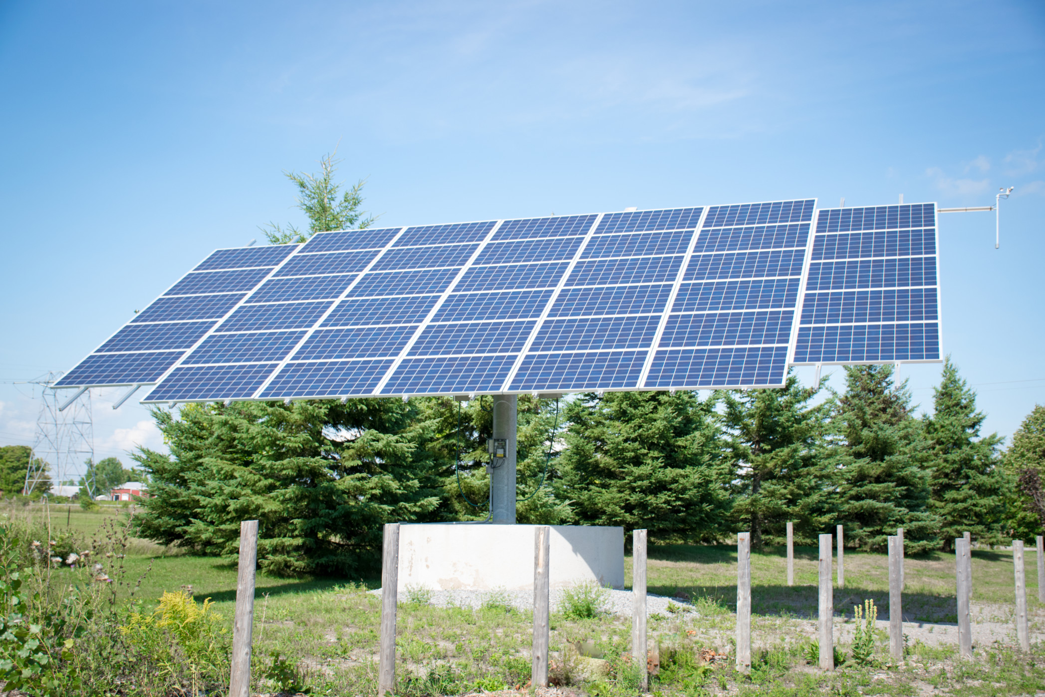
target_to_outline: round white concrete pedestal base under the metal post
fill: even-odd
[[[399,591],[533,587],[537,526],[418,524],[399,527]],[[551,587],[583,581],[624,587],[624,529],[551,526]]]

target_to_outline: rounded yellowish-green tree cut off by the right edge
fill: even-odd
[[[1025,474],[1037,472],[1038,480],[1045,480],[1045,406],[1035,404],[1020,427],[1013,434],[1013,443],[1005,451],[1003,473],[1006,485],[1006,520],[1004,528],[1016,539],[1028,539],[1045,531],[1045,520],[1036,510],[1030,495],[1013,486]]]

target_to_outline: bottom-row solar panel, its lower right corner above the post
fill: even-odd
[[[460,394],[498,392],[515,364],[514,355],[407,358],[381,394]]]

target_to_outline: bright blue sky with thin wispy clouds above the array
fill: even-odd
[[[0,444],[39,410],[9,380],[301,224],[281,172],[335,145],[388,225],[1016,186],[998,251],[993,213],[940,222],[944,345],[989,432],[1045,403],[1041,2],[9,1],[0,93]],[[924,406],[938,374],[904,368]],[[99,457],[161,445],[118,393]]]

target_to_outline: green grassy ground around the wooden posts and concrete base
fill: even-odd
[[[66,522],[80,533],[108,534],[109,527],[130,511],[103,507],[96,512],[52,507],[52,534]],[[22,514],[28,514],[23,512]],[[34,507],[33,516],[42,509]],[[1008,628],[991,642],[980,642],[973,661],[959,661],[954,649],[938,636],[913,634],[903,666],[888,666],[885,635],[877,637],[877,660],[847,665],[821,674],[809,665],[808,651],[816,612],[816,550],[796,550],[795,583],[785,585],[781,549],[751,555],[752,635],[754,661],[748,675],[730,663],[702,665],[694,659],[701,648],[730,652],[736,601],[736,548],[728,545],[660,545],[649,554],[649,590],[686,597],[697,612],[654,617],[651,635],[661,646],[660,674],[654,695],[699,697],[711,694],[803,695],[1023,695],[1045,690],[1045,647],[1030,655],[1015,649]],[[974,557],[974,604],[1011,608],[1012,553],[977,550]],[[144,540],[129,549],[125,578],[142,575],[137,596],[155,602],[164,590],[192,586],[200,600],[211,598],[231,624],[236,570],[232,564],[179,553]],[[630,558],[625,560],[630,583]],[[1026,554],[1028,603],[1032,631],[1045,631],[1045,607],[1037,601],[1034,551]],[[147,573],[146,573],[147,571]],[[923,631],[954,621],[954,558],[933,553],[908,558],[904,596],[905,621],[935,623]],[[847,551],[844,589],[835,591],[839,650],[850,651],[852,605],[873,599],[887,605],[884,555]],[[373,695],[379,599],[367,593],[376,579],[284,579],[259,574],[255,605],[255,677],[257,690],[274,692],[261,675],[273,652],[289,656],[304,680],[319,694]],[[436,608],[423,603],[400,605],[398,630],[399,692],[403,695],[452,695],[496,692],[525,686],[529,679],[530,625],[527,612],[506,608],[496,594],[483,609]],[[907,628],[905,626],[905,631]],[[911,630],[913,632],[913,630]],[[593,697],[637,694],[635,673],[622,659],[629,649],[630,621],[600,614],[591,619],[552,621],[553,674]],[[1007,633],[1006,633],[1007,632]],[[570,650],[575,642],[594,642],[604,661],[580,658]],[[844,655],[842,656],[844,657]]]

